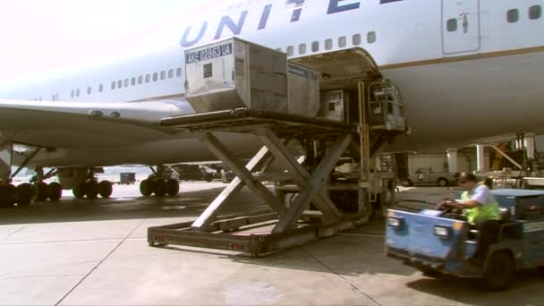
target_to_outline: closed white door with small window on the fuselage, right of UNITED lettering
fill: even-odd
[[[445,55],[480,50],[480,0],[442,0]]]

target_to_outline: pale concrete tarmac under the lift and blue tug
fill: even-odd
[[[225,187],[183,183],[176,198],[141,198],[115,186],[111,200],[0,210],[0,305],[537,305],[544,278],[520,273],[502,293],[470,280],[422,276],[384,256],[384,221],[252,259],[228,251],[151,248],[147,228],[193,220]],[[403,189],[437,201],[455,189]],[[234,210],[258,210],[250,191]],[[419,205],[417,203],[413,205]],[[424,204],[421,204],[424,206]],[[234,212],[225,211],[225,213]]]

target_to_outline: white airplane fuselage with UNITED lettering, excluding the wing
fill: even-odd
[[[366,49],[401,89],[406,105],[411,134],[390,149],[446,148],[544,131],[541,0],[247,0],[232,6],[207,15],[183,13],[146,32],[163,51],[29,84],[0,98],[161,101],[191,112],[184,98],[183,49],[235,35],[281,48],[292,58]],[[55,130],[49,137],[69,137],[69,131]],[[32,140],[29,135],[27,142],[36,143]],[[74,139],[72,148],[59,145],[37,160],[44,166],[106,166],[213,159],[190,135],[179,140],[135,134],[123,140],[115,145],[115,140]],[[244,140],[235,136],[232,141]]]

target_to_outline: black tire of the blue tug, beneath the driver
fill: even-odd
[[[515,266],[512,256],[506,251],[491,255],[486,265],[482,285],[489,291],[506,290],[514,280]]]

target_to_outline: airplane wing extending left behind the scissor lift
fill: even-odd
[[[179,136],[174,136],[174,131],[159,129],[159,120],[193,112],[188,102],[73,103],[0,99],[0,142],[46,148],[89,148],[172,139]]]

